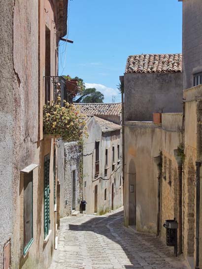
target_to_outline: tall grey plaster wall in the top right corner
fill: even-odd
[[[183,89],[193,87],[193,72],[202,72],[201,0],[183,0]]]

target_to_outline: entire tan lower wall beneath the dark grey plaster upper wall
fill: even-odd
[[[160,176],[160,232],[163,240],[166,240],[165,220],[174,217],[178,220],[178,165],[174,150],[182,143],[181,129],[180,113],[163,114],[162,124],[125,122],[125,225],[136,224],[138,231],[157,233]],[[162,158],[159,167],[154,161],[158,156]],[[135,194],[131,193],[130,185],[133,184],[136,185]]]

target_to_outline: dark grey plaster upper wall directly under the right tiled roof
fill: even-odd
[[[182,89],[182,73],[124,74],[125,120],[153,120],[154,112],[182,112]]]

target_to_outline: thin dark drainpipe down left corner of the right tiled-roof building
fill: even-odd
[[[124,201],[124,176],[125,176],[125,141],[124,141],[124,77],[119,77],[121,82],[121,121],[122,121],[122,179],[123,179],[123,201]]]

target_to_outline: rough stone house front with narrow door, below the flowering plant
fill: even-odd
[[[82,147],[78,142],[60,140],[58,179],[60,180],[60,217],[77,214],[82,200]]]

